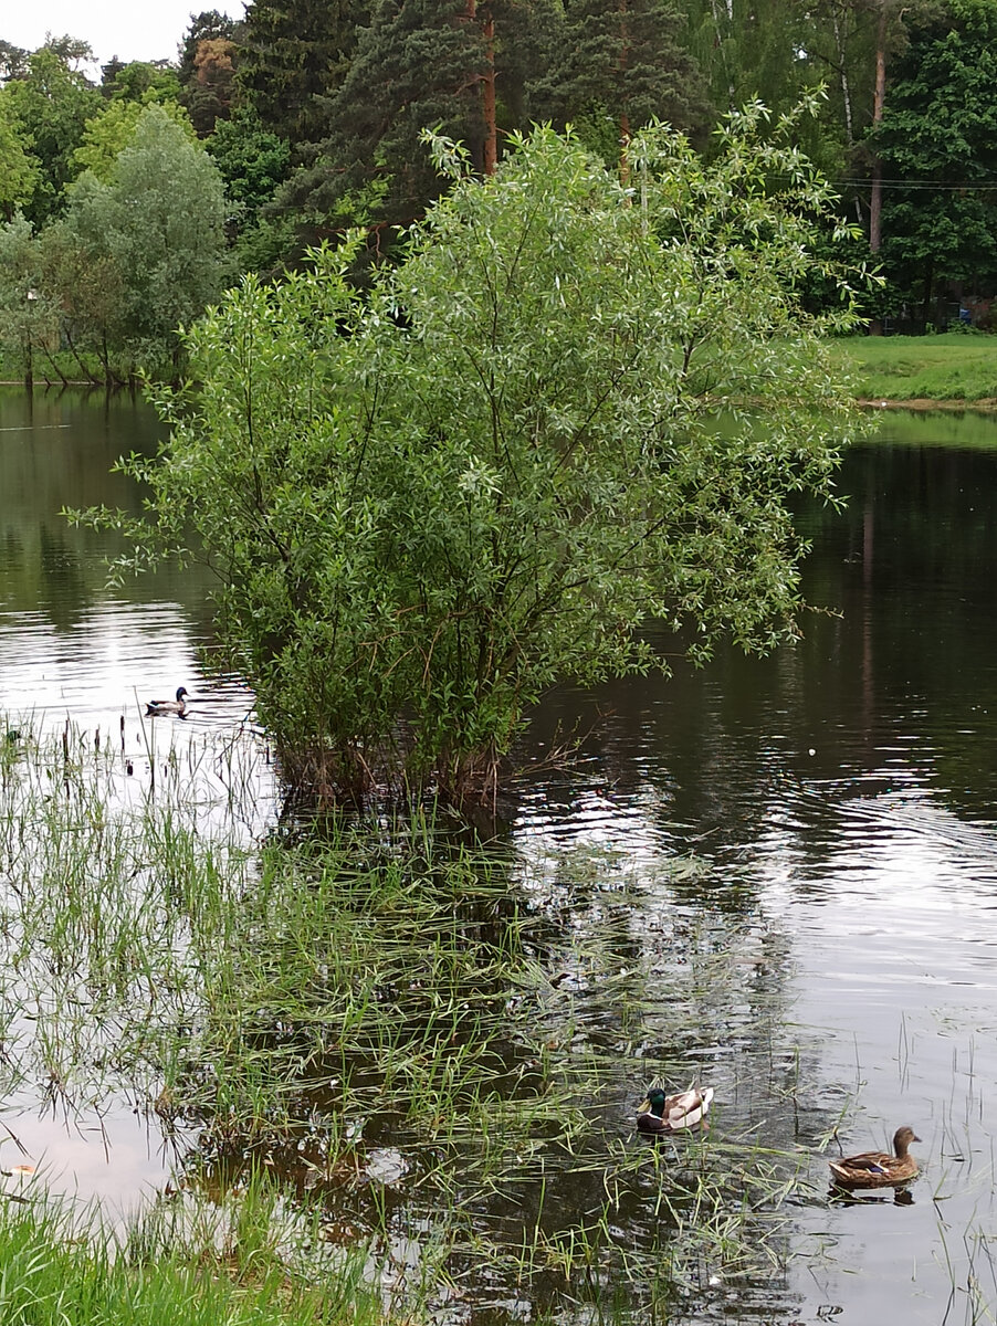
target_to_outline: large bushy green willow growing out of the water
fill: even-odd
[[[712,164],[636,134],[632,191],[549,129],[484,182],[435,139],[452,190],[366,296],[354,236],[190,330],[196,386],[127,463],[151,528],[89,518],[138,540],[122,572],[199,532],[290,780],[467,804],[549,687],[667,668],[647,617],[699,659],[797,634],[786,499],[833,496],[854,411],[818,333],[852,313],[843,282],[799,308],[833,195],[761,122]]]

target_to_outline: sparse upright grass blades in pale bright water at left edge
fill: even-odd
[[[0,782],[7,1067],[81,1105],[151,1089],[163,1029],[198,998],[192,916],[252,871],[244,833],[198,822],[179,761],[155,792],[123,764],[66,729],[21,739]]]

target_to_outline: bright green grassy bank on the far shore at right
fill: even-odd
[[[850,337],[833,351],[863,400],[997,402],[997,337]]]

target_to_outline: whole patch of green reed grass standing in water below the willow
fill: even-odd
[[[317,1221],[281,1265],[335,1250],[398,1285],[399,1311],[488,1266],[590,1306],[624,1285],[664,1321],[670,1294],[778,1269],[798,1159],[622,1142],[599,1114],[620,1082],[684,1086],[744,1002],[766,1091],[794,1098],[805,1066],[773,1053],[785,957],[681,906],[700,863],[586,851],[517,873],[418,813],[281,829],[251,737],[154,737],[135,774],[80,733],[0,752],[0,1082],[68,1114],[138,1101],[192,1139],[147,1248],[180,1246],[265,1170],[282,1195],[253,1208],[261,1231]],[[522,1213],[496,1216],[513,1195]]]

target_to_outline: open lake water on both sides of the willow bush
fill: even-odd
[[[110,594],[113,541],[58,514],[138,511],[141,495],[109,469],[158,436],[127,399],[36,395],[29,408],[0,394],[0,707],[123,740],[137,780],[164,747],[224,744],[252,713],[252,696],[200,662],[207,573]],[[542,754],[563,732],[590,733],[581,776],[524,780],[509,837],[522,887],[570,918],[556,991],[579,1052],[619,1048],[619,1082],[594,1106],[599,1135],[632,1144],[635,1062],[652,1077],[684,1055],[689,1078],[716,1087],[711,1140],[753,1136],[809,1166],[784,1211],[777,1280],[707,1277],[688,1319],[992,1321],[997,420],[884,414],[839,489],[843,513],[801,514],[807,598],[827,610],[807,617],[802,643],[559,692],[530,740]],[[158,721],[150,754],[139,701],[180,684],[191,717]],[[259,740],[252,777],[248,831],[260,833],[280,808]],[[696,866],[647,884],[676,858]],[[672,984],[656,1001],[656,973],[693,935],[727,976],[691,988],[676,1017]],[[53,1188],[125,1208],[170,1180],[183,1146],[125,1099],[70,1120],[24,1087],[0,1110]],[[912,1201],[829,1201],[815,1152],[835,1126],[859,1151],[902,1123],[921,1139]],[[639,1246],[647,1219],[622,1209],[620,1237]],[[529,1315],[505,1289],[483,1303],[489,1322]]]

